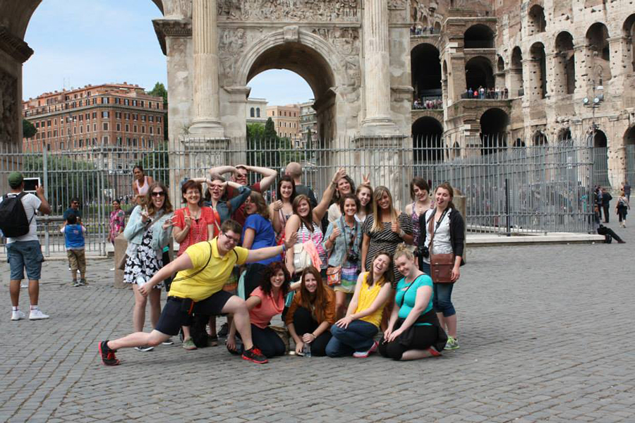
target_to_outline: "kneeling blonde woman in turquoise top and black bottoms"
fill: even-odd
[[[447,342],[433,309],[433,281],[418,269],[405,244],[394,252],[394,266],[404,277],[397,293],[388,328],[379,345],[380,354],[393,360],[438,357]]]

